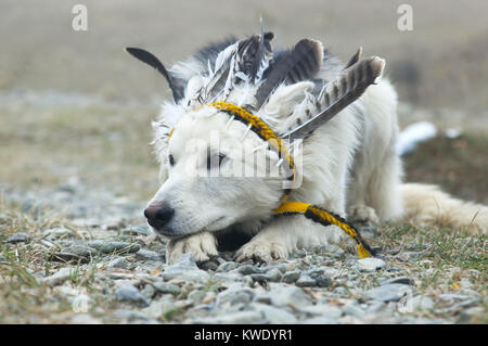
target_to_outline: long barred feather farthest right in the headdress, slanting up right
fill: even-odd
[[[281,137],[293,140],[307,137],[313,132],[313,130],[361,97],[370,85],[376,82],[384,67],[385,61],[373,56],[361,60],[344,69],[335,80],[324,86],[321,98],[318,100],[322,111]]]

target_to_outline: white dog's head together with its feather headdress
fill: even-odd
[[[180,238],[268,218],[290,188],[272,145],[211,102],[244,105],[282,139],[301,139],[358,99],[384,67],[378,57],[359,61],[358,51],[325,84],[319,41],[304,39],[274,60],[272,38],[261,31],[171,71],[144,50],[127,49],[167,79],[175,99],[154,123],[162,185],[144,215],[156,232]],[[309,81],[317,75],[319,82]]]

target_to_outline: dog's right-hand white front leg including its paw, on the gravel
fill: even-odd
[[[344,232],[338,227],[324,227],[303,215],[280,216],[237,251],[236,260],[270,262],[285,259],[298,247],[332,245],[333,251],[344,239]]]

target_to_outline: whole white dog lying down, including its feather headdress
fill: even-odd
[[[183,253],[207,260],[218,255],[218,245],[226,245],[226,235],[243,234],[248,240],[236,252],[240,260],[271,261],[286,258],[297,247],[344,241],[335,226],[323,227],[301,215],[273,216],[283,196],[280,176],[232,174],[236,166],[253,171],[256,163],[279,165],[280,156],[247,124],[210,102],[242,106],[275,133],[285,133],[322,111],[323,100],[337,91],[328,86],[344,75],[345,66],[361,63],[360,51],[343,65],[314,40],[272,53],[271,39],[272,34],[261,33],[213,44],[169,71],[154,55],[128,49],[167,78],[175,97],[153,125],[162,185],[144,212],[153,229],[170,239],[169,262]],[[377,64],[381,74],[382,60],[368,62]],[[311,203],[356,221],[416,217],[486,233],[488,208],[452,198],[432,185],[402,183],[395,151],[396,107],[397,94],[382,79],[303,136],[301,150],[292,154],[300,184],[287,201]],[[217,176],[203,177],[214,168]]]

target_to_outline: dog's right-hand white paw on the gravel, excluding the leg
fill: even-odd
[[[288,252],[283,244],[267,241],[251,241],[244,244],[235,254],[237,261],[252,259],[254,261],[272,262],[279,259],[285,259]]]

